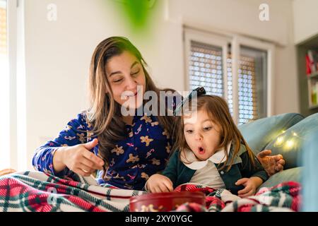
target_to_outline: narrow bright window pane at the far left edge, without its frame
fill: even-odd
[[[7,4],[0,0],[0,169],[10,165]]]

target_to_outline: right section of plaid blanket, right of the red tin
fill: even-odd
[[[240,198],[225,189],[212,189],[194,184],[183,184],[175,191],[201,191],[206,194],[206,206],[184,203],[177,212],[285,212],[300,210],[298,182],[284,182],[271,188],[262,188],[254,196]]]

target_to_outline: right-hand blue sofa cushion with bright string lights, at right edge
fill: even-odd
[[[283,155],[285,169],[298,167],[302,165],[299,162],[300,155],[304,152],[310,136],[318,138],[318,113],[310,115],[281,133],[266,145],[265,149],[271,149],[273,155]]]

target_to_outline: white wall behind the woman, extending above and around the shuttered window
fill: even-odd
[[[268,22],[259,20],[262,3],[270,7]],[[47,20],[48,4],[57,4],[55,22]],[[143,37],[127,28],[113,4],[114,0],[25,1],[28,166],[35,148],[57,136],[87,107],[90,57],[95,46],[112,35],[129,37],[148,61],[154,81],[177,90],[184,90],[184,24],[275,42],[274,112],[298,112],[290,0],[160,0],[159,10],[151,9],[153,33]]]

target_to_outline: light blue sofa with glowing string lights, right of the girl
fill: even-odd
[[[306,118],[295,113],[279,114],[238,127],[255,154],[269,149],[272,150],[272,155],[281,154],[285,159],[284,170],[271,176],[259,189],[286,181],[302,183],[307,178],[303,167],[308,158],[305,158],[305,153],[312,150],[312,155],[317,155],[314,150],[318,149],[318,113]],[[314,175],[311,177],[307,181],[312,182]],[[306,184],[309,182],[303,185]]]

